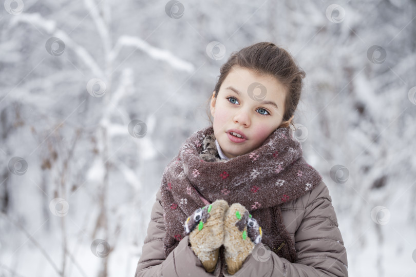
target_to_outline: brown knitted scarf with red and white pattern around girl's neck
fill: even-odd
[[[214,146],[213,146],[214,145]],[[183,223],[196,209],[223,199],[243,205],[263,232],[261,242],[294,262],[296,250],[283,225],[280,206],[315,188],[322,176],[302,157],[302,147],[289,128],[277,128],[257,149],[230,160],[216,151],[212,126],[194,132],[167,165],[161,182],[166,235],[164,255],[185,234]],[[222,257],[221,257],[222,260]]]

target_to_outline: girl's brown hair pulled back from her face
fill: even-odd
[[[302,78],[306,76],[306,73],[296,65],[294,58],[289,52],[270,42],[260,42],[245,47],[238,52],[234,51],[231,53],[228,61],[220,68],[219,79],[214,89],[215,98],[217,98],[222,82],[224,82],[233,66],[240,66],[253,70],[257,74],[275,77],[286,88],[287,92],[283,122],[278,128],[289,128],[291,123],[295,127],[292,118],[300,99],[303,85]],[[213,124],[209,110],[207,110],[207,114],[211,124]]]

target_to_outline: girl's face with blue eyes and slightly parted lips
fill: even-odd
[[[258,148],[282,123],[286,90],[274,77],[235,66],[214,96],[215,91],[211,98],[214,135],[230,159]]]

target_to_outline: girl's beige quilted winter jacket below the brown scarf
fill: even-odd
[[[321,182],[310,192],[281,206],[283,223],[296,248],[295,263],[280,258],[260,242],[240,270],[229,275],[223,269],[224,276],[348,276],[347,253],[331,201],[326,184]],[[206,272],[192,251],[188,236],[164,258],[165,225],[160,189],[150,216],[135,277],[219,276],[220,267],[225,265],[218,259],[214,273]]]

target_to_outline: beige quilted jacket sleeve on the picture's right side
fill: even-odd
[[[309,192],[303,219],[295,232],[295,249],[296,262],[291,263],[260,242],[240,270],[234,275],[229,275],[225,270],[224,275],[348,277],[346,249],[324,182]]]

